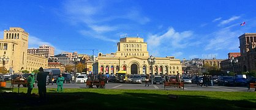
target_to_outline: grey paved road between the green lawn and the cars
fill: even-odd
[[[10,87],[10,82],[7,82],[6,87]],[[17,87],[17,85],[15,85]],[[22,87],[22,86],[21,86]],[[64,89],[86,89],[86,84],[78,84],[78,83],[64,83]],[[35,88],[37,88],[37,84],[35,84]],[[47,85],[47,88],[57,88],[56,84]],[[145,86],[145,84],[127,84],[127,83],[114,83],[108,82],[106,84],[106,89],[148,89],[148,90],[164,90],[163,84],[149,84],[149,86]],[[183,90],[177,87],[165,87],[166,90]],[[225,92],[247,92],[247,87],[228,87],[228,86],[208,86],[201,87],[197,86],[197,84],[185,84],[184,90],[200,90],[200,91],[225,91]]]

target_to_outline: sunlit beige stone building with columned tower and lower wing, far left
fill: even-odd
[[[28,32],[22,28],[11,27],[4,30],[4,39],[0,40],[0,56],[9,57],[9,62],[5,65],[7,70],[18,73],[27,68],[34,70],[39,65],[47,65],[42,57],[28,54],[28,37]]]

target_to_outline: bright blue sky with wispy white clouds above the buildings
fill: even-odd
[[[239,35],[256,33],[256,1],[129,0],[0,2],[0,36],[9,27],[29,32],[29,48],[115,53],[121,37],[142,37],[149,54],[177,59],[227,59]],[[246,22],[244,26],[241,23]]]

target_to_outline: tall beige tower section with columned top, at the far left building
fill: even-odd
[[[15,73],[26,68],[27,51],[28,51],[28,32],[22,28],[10,28],[4,30],[4,39],[0,43],[7,43],[7,50],[0,50],[0,56],[6,53],[10,58],[6,64],[7,70],[12,67]],[[4,45],[2,45],[3,47]]]

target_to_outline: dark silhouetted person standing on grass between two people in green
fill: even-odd
[[[47,81],[47,73],[43,71],[43,68],[39,68],[39,73],[37,73],[37,86],[38,86],[38,94],[40,99],[45,100],[46,98],[46,81]]]

